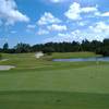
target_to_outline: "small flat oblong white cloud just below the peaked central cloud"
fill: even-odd
[[[50,26],[47,26],[47,28],[49,31],[58,31],[58,32],[66,31],[66,26],[65,25],[57,25],[57,24],[52,24]]]

